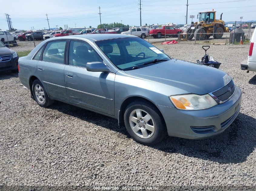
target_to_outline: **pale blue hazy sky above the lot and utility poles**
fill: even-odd
[[[217,11],[216,18],[228,21],[256,20],[256,0],[188,0],[189,15],[200,11]],[[28,30],[50,27],[97,27],[100,24],[99,6],[101,7],[101,23],[122,22],[131,26],[140,25],[139,0],[43,0],[43,1],[3,1],[1,0],[0,28],[8,29],[5,13],[11,15],[12,26]],[[142,25],[175,23],[184,24],[187,0],[141,0]]]

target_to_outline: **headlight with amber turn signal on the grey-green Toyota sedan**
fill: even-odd
[[[185,94],[169,96],[169,98],[175,107],[180,110],[204,110],[218,104],[209,94]]]

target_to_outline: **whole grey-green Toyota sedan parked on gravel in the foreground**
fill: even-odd
[[[145,145],[167,134],[217,135],[241,105],[241,90],[225,72],[171,58],[131,35],[48,39],[18,65],[20,81],[40,106],[58,100],[113,117]]]

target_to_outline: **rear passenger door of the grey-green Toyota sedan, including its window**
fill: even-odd
[[[40,60],[37,74],[49,97],[67,101],[64,81],[66,40],[47,43]]]

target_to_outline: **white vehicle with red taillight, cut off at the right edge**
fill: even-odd
[[[256,29],[251,36],[248,58],[241,62],[241,69],[256,72]]]

